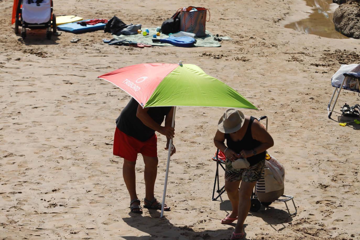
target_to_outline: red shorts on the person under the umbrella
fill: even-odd
[[[148,157],[157,157],[157,136],[154,134],[150,139],[142,142],[116,128],[113,153],[131,162],[136,161],[138,153]]]

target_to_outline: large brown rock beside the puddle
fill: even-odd
[[[333,0],[340,4],[343,0]],[[360,38],[360,0],[348,0],[335,10],[333,22],[336,31],[347,37]]]

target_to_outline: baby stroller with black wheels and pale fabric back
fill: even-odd
[[[26,38],[26,28],[46,29],[46,38],[51,39],[51,35],[56,32],[52,0],[14,0],[15,6],[15,34],[19,33],[19,26],[22,26],[23,39]]]

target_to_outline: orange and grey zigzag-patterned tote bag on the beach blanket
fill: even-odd
[[[190,12],[193,6],[186,11],[180,11],[180,31],[195,33],[197,37],[206,36],[205,23],[210,20],[210,11],[207,8],[195,8],[197,11]],[[209,12],[209,19],[206,20],[206,13]]]

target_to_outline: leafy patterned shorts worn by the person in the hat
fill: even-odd
[[[226,158],[225,166],[225,181],[256,182],[260,179],[262,170],[265,167],[265,159],[248,168],[235,169],[231,165],[231,161]]]

